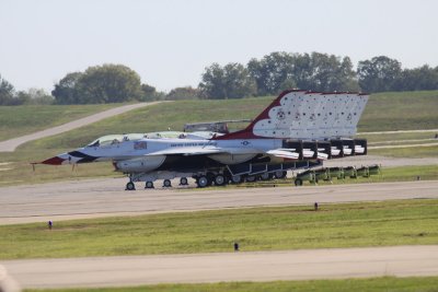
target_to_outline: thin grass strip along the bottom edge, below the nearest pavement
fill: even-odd
[[[25,290],[26,292],[434,292],[438,277],[369,278],[314,281],[230,282],[208,284],[160,284],[134,288]]]

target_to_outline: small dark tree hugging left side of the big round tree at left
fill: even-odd
[[[80,93],[78,83],[83,73],[81,72],[68,73],[58,84],[55,84],[55,90],[51,91],[51,95],[55,97],[57,104],[79,103]]]

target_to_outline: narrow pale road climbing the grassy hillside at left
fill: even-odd
[[[19,145],[26,143],[28,141],[42,139],[45,137],[58,135],[58,133],[66,132],[66,131],[70,131],[72,129],[77,129],[77,128],[87,126],[92,122],[96,122],[99,120],[102,120],[102,119],[105,119],[105,118],[108,118],[112,116],[116,116],[116,115],[119,115],[119,114],[123,114],[123,113],[126,113],[126,112],[129,112],[129,110],[132,110],[132,109],[136,109],[139,107],[143,107],[143,106],[152,105],[152,104],[157,104],[157,103],[158,102],[119,106],[119,107],[115,107],[115,108],[112,108],[112,109],[108,109],[108,110],[105,110],[102,113],[97,113],[95,115],[91,115],[91,116],[78,119],[78,120],[73,120],[73,121],[50,128],[50,129],[45,129],[45,130],[34,132],[31,135],[26,135],[26,136],[11,139],[11,140],[2,141],[2,142],[0,142],[0,152],[13,152],[13,151],[15,151],[15,149]]]

